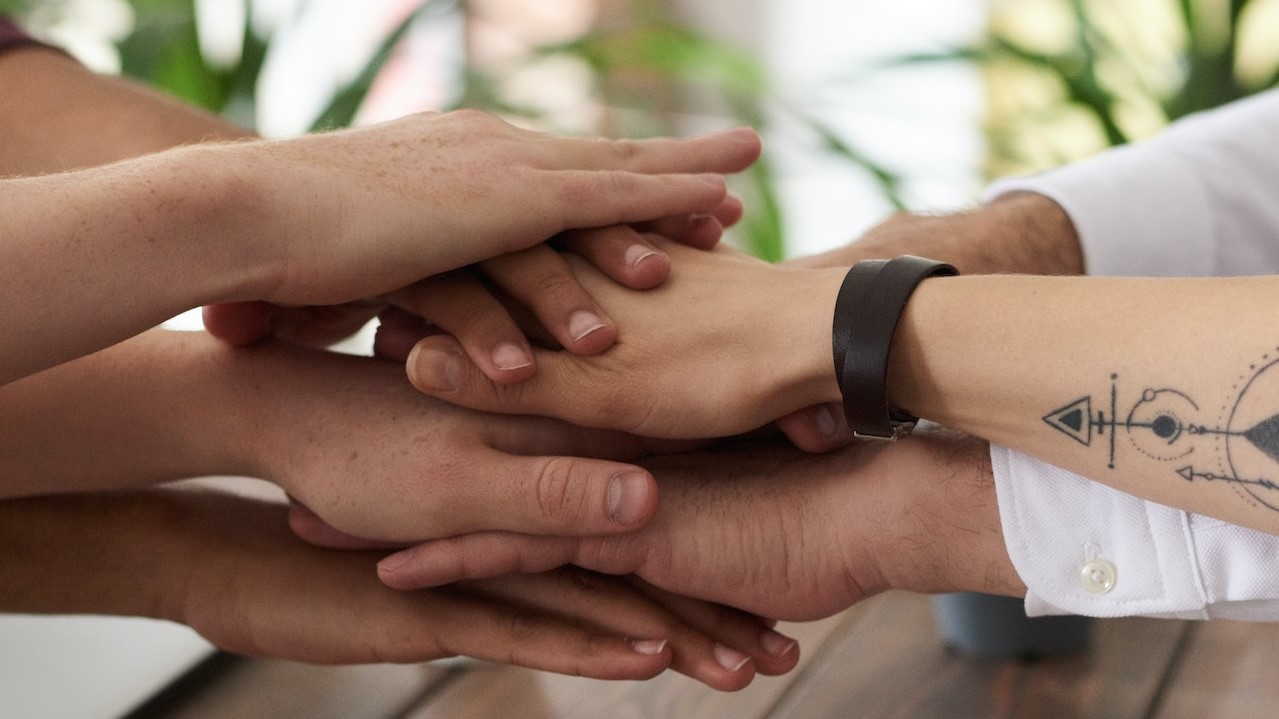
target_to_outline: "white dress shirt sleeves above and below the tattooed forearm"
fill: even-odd
[[[1067,211],[1091,275],[1279,274],[1279,91],[986,197],[1013,191]],[[1279,536],[990,454],[1027,614],[1279,620]]]

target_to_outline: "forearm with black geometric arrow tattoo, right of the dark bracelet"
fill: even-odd
[[[927,280],[898,330],[890,400],[1122,491],[1279,532],[1276,312],[1276,278]]]

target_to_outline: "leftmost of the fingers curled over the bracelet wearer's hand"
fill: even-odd
[[[390,302],[457,338],[472,367],[499,384],[537,372],[524,333],[468,270],[428,278],[388,296]]]

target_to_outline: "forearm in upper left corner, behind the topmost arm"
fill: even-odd
[[[0,56],[0,177],[115,162],[248,137],[234,124],[42,47]]]

